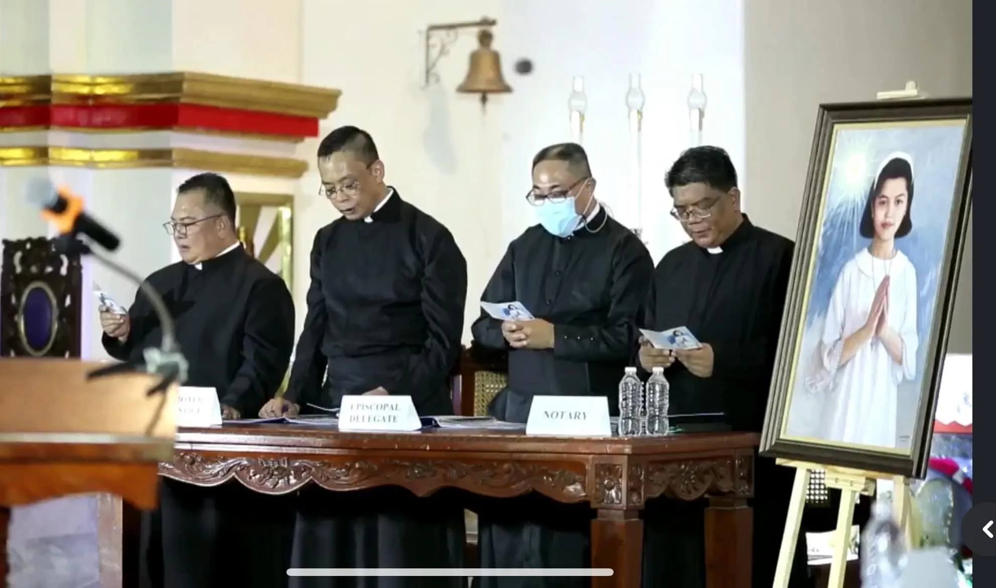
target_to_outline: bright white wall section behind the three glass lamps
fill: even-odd
[[[585,147],[599,180],[597,195],[616,218],[638,225],[630,180],[625,94],[629,74],[640,74],[643,110],[642,228],[654,259],[685,235],[667,212],[664,172],[689,147],[687,97],[693,74],[703,74],[708,96],[703,141],[726,147],[743,168],[744,109],[741,0],[505,0],[496,33],[506,59],[526,57],[535,70],[515,77],[502,127],[502,201],[505,241],[534,224],[524,196],[540,147],[570,141],[568,97],[574,76],[585,78]],[[676,26],[676,23],[685,25]],[[703,42],[700,23],[708,27]]]

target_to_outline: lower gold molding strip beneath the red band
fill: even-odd
[[[96,169],[177,167],[297,179],[308,162],[293,157],[219,153],[184,147],[94,149],[80,147],[0,147],[0,166],[67,166]]]

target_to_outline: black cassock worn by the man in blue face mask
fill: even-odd
[[[597,232],[592,232],[597,231]],[[601,209],[561,238],[536,225],[512,241],[481,296],[519,301],[553,323],[553,350],[510,350],[508,386],[489,412],[525,423],[534,395],[607,396],[618,414],[619,383],[636,339],[634,320],[653,261],[643,243]],[[508,349],[501,321],[486,313],[474,322],[474,340]],[[591,567],[592,509],[538,494],[475,500],[478,551],[485,568]],[[589,586],[589,578],[475,578],[479,588]]]

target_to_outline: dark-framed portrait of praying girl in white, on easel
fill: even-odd
[[[971,193],[971,99],[820,107],[764,454],[925,473]]]

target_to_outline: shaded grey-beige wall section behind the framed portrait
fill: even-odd
[[[972,94],[971,0],[750,0],[744,15],[746,173],[751,216],[795,238],[822,103],[874,100],[916,81]],[[972,350],[972,245],[966,243],[949,351]]]

